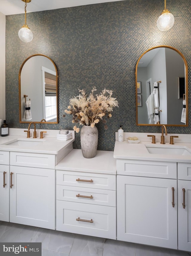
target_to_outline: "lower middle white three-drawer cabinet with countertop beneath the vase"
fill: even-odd
[[[107,174],[110,163],[114,174]],[[113,152],[98,151],[86,159],[73,149],[56,166],[56,230],[116,239]]]

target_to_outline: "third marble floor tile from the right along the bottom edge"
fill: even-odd
[[[135,256],[135,244],[107,239],[103,256]]]

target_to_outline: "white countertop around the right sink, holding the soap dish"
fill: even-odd
[[[136,136],[136,133],[134,136]],[[137,144],[133,144],[124,140],[123,142],[115,141],[113,157],[118,159],[191,163],[191,155],[150,154],[145,145],[150,145],[151,147],[156,147],[157,145],[159,147],[184,147],[191,152],[191,143],[175,142],[174,145],[171,145],[169,142],[166,142],[166,144],[160,144],[160,142],[152,144],[149,141],[140,141]]]

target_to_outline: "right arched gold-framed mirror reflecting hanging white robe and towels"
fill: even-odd
[[[188,67],[181,52],[157,46],[135,70],[137,125],[188,126]]]

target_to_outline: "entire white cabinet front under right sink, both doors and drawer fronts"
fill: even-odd
[[[117,239],[191,251],[191,164],[117,159]]]

